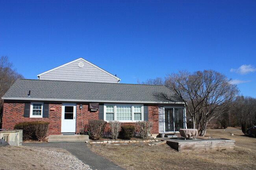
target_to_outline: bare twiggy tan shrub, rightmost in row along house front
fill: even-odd
[[[153,126],[153,123],[150,121],[138,121],[136,122],[136,127],[139,130],[139,135],[143,139],[148,139],[148,135]]]

